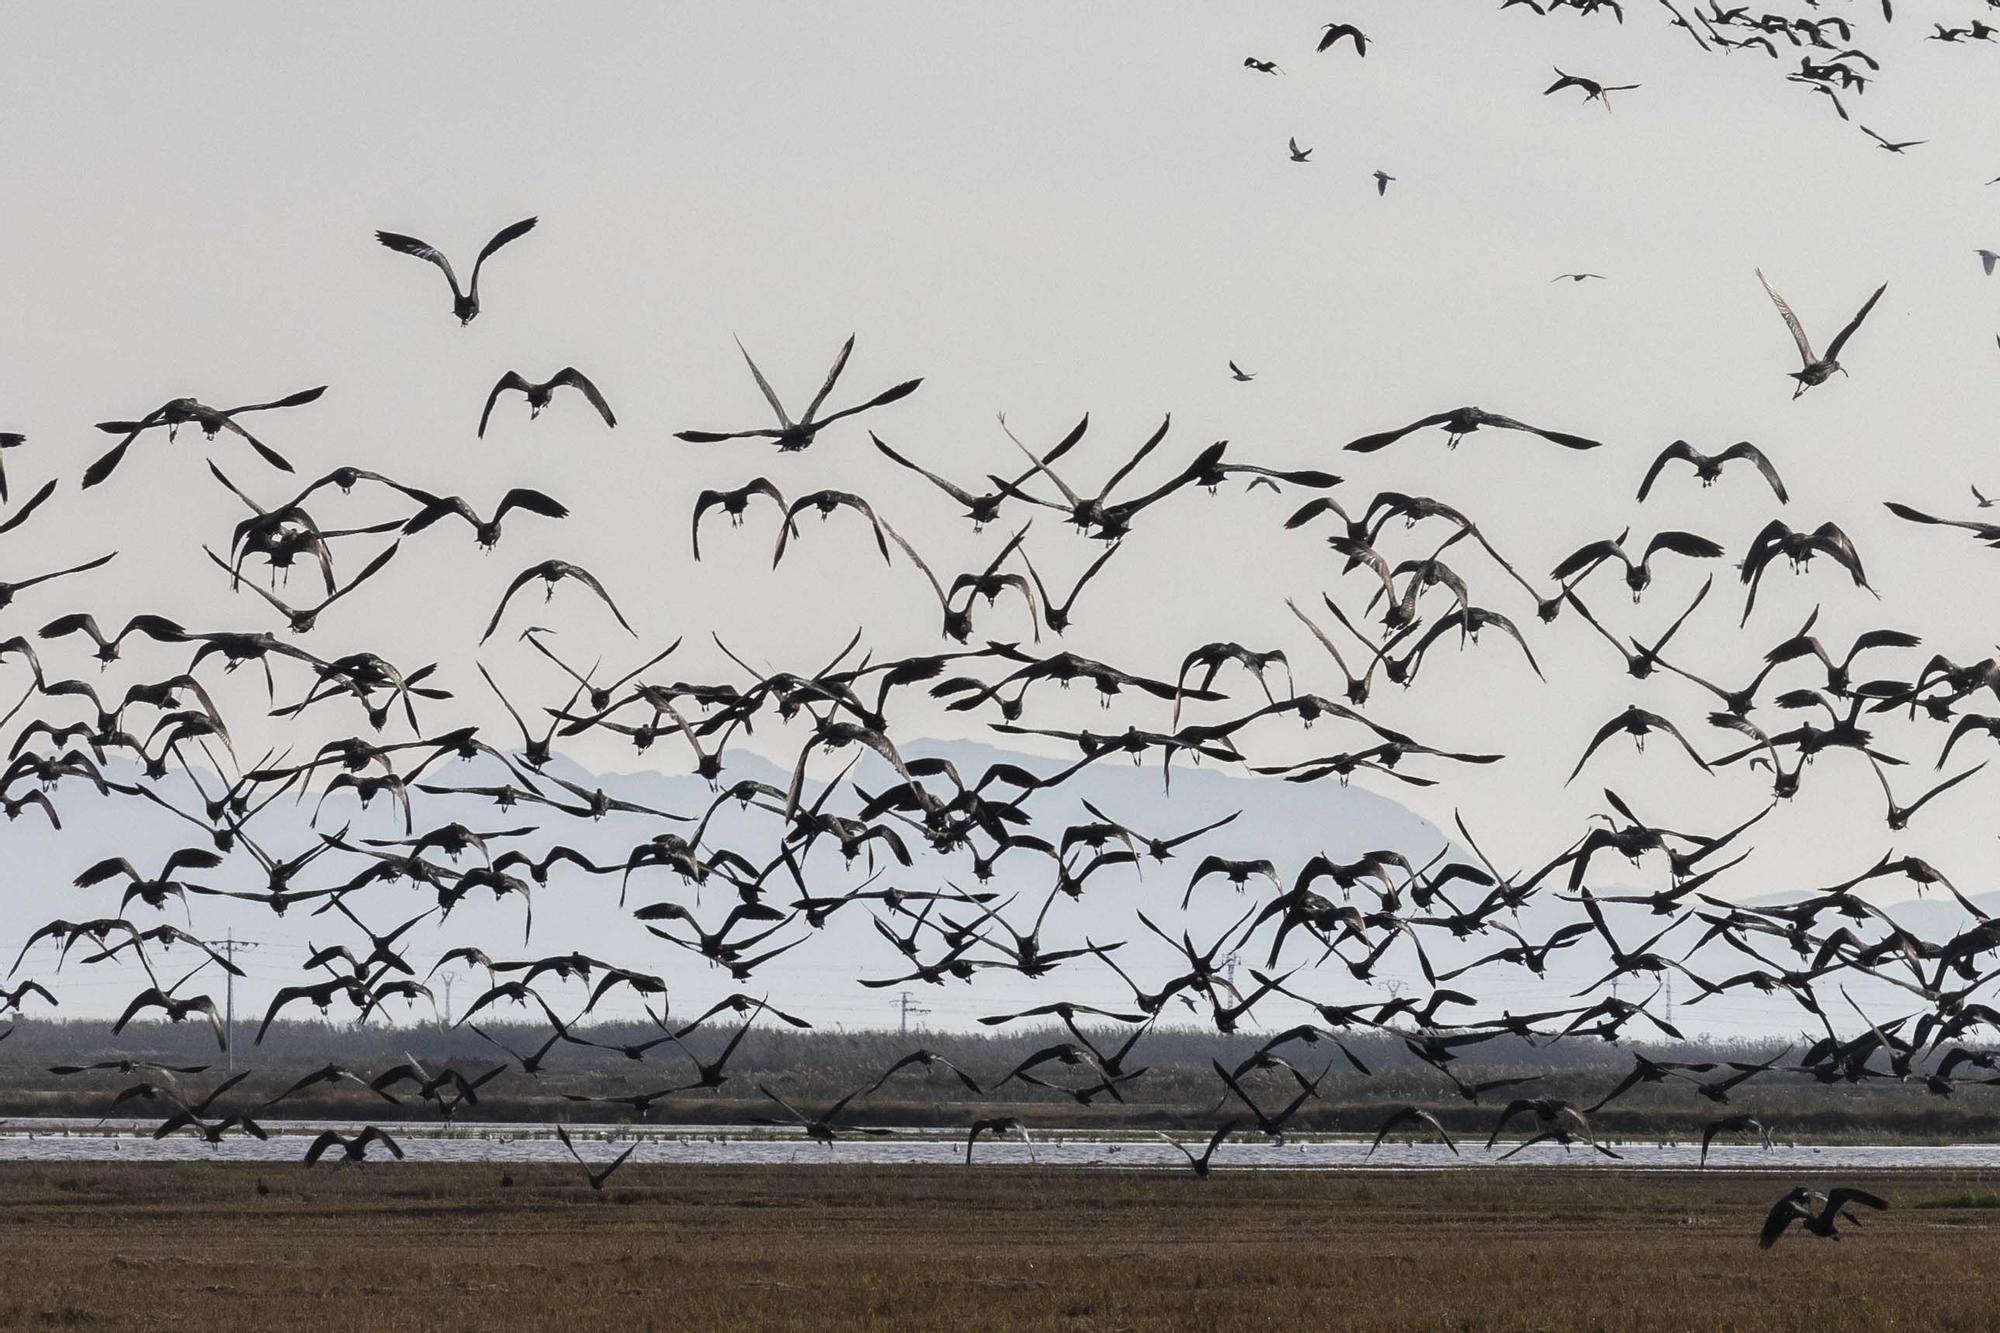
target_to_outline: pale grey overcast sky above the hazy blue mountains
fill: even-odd
[[[834,406],[924,376],[866,424],[964,484],[1018,470],[996,412],[1040,446],[1090,412],[1062,470],[1092,488],[1172,412],[1146,484],[1228,438],[1232,460],[1340,472],[1350,504],[1384,486],[1456,502],[1538,584],[1626,524],[1640,540],[1686,526],[1738,556],[1778,512],[1754,476],[1704,492],[1670,474],[1646,506],[1632,492],[1668,440],[1750,438],[1790,484],[1784,518],[1838,520],[1884,600],[1824,562],[1798,580],[1778,568],[1738,632],[1740,586],[1716,562],[1716,592],[1674,660],[1742,685],[1822,598],[1830,642],[1894,624],[1958,660],[1990,652],[1984,552],[1900,524],[1880,500],[1962,514],[1968,482],[2000,488],[2000,470],[1982,472],[2000,408],[2000,278],[1974,256],[2000,248],[2000,186],[1984,186],[2000,174],[2000,50],[1924,42],[1914,16],[1886,34],[1870,24],[1860,40],[1886,68],[1850,98],[1856,120],[1930,140],[1894,156],[1782,78],[1790,48],[1784,62],[1702,54],[1644,0],[1628,10],[1618,26],[1346,2],[1338,16],[1372,36],[1364,60],[1350,46],[1314,54],[1330,12],[1296,4],[16,12],[20,58],[0,86],[0,426],[32,448],[10,472],[74,476],[108,444],[90,422],[176,394],[230,404],[324,382],[320,404],[258,422],[302,476],[376,466],[478,506],[512,484],[550,490],[570,520],[516,516],[492,554],[458,528],[412,538],[306,644],[380,650],[394,626],[398,662],[446,662],[464,695],[452,721],[504,723],[486,713],[468,646],[506,580],[546,556],[598,572],[642,630],[624,638],[574,588],[510,614],[516,628],[556,626],[552,642],[584,664],[602,654],[624,671],[682,634],[670,675],[718,679],[714,628],[750,660],[796,671],[862,624],[878,658],[938,640],[922,576],[900,556],[884,566],[852,516],[812,522],[778,570],[768,510],[740,530],[712,518],[710,558],[688,554],[694,494],[756,474],[786,494],[866,494],[946,578],[1014,530],[1010,516],[974,536],[856,424],[804,456],[672,438],[770,424],[732,334],[796,408],[856,332]],[[1286,74],[1254,74],[1244,56]],[[1540,96],[1552,66],[1642,88],[1606,114],[1578,94]],[[1288,160],[1288,136],[1314,150],[1308,164]],[[1386,198],[1378,168],[1396,176]],[[488,264],[486,312],[468,328],[432,268],[372,240],[414,232],[466,270],[486,236],[528,214],[540,228]],[[1758,266],[1822,344],[1888,282],[1842,358],[1852,378],[1790,400],[1796,358]],[[1568,270],[1608,280],[1550,282]],[[1232,358],[1258,378],[1230,380]],[[616,430],[576,398],[530,424],[514,398],[474,438],[500,372],[564,364],[604,388]],[[1340,452],[1466,402],[1606,448],[1484,432],[1446,452],[1426,432],[1368,458]],[[294,490],[240,446],[210,454],[266,500]],[[1154,675],[1210,638],[1284,646],[1300,689],[1336,693],[1284,598],[1338,586],[1358,606],[1364,592],[1358,578],[1336,584],[1314,532],[1280,528],[1300,498],[1228,486],[1148,512],[1062,646]],[[356,492],[326,510],[322,522],[360,522],[394,506]],[[100,618],[206,608],[216,624],[268,624],[248,594],[228,600],[198,550],[196,538],[226,544],[240,512],[200,466],[198,436],[134,446],[104,488],[44,514],[32,560],[20,542],[6,554],[16,576],[120,548],[116,578],[24,598],[8,632],[80,602]],[[1064,588],[1098,552],[1052,512],[1028,548]],[[1402,554],[1418,550],[1406,540]],[[1462,570],[1474,600],[1532,620],[1492,566],[1466,556]],[[1586,588],[1616,628],[1656,632],[1706,572],[1662,566],[1638,608],[1610,574]],[[1018,602],[978,612],[982,638],[1026,632]],[[1488,851],[1502,863],[1536,865],[1576,837],[1604,781],[1676,825],[1760,803],[1756,775],[1694,785],[1682,759],[1624,741],[1560,789],[1626,703],[1676,717],[1704,751],[1732,743],[1700,723],[1706,695],[1628,681],[1574,616],[1530,634],[1548,687],[1488,638],[1434,654],[1416,691],[1380,707],[1426,741],[1510,761],[1386,795],[1440,825],[1462,807],[1498,829]],[[504,638],[480,660],[524,701],[560,703],[560,679]],[[1104,725],[1094,715],[1074,699],[1042,719]],[[898,725],[980,735],[916,699]],[[800,739],[758,745],[788,761]],[[1934,745],[1932,731],[1908,741],[1904,785],[1930,773]],[[582,759],[648,763],[610,747]],[[654,761],[684,771],[674,749]],[[1820,767],[1834,771],[1774,817],[1758,879],[1740,889],[1828,883],[1890,847],[1866,769]],[[1924,853],[1960,883],[1990,877],[1992,831],[1970,817],[1990,793],[1920,825]]]

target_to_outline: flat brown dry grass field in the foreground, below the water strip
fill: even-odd
[[[8,1165],[0,1327],[1992,1327],[1992,1179]],[[260,1193],[258,1185],[266,1193]],[[1804,1183],[1804,1181],[1800,1181]]]

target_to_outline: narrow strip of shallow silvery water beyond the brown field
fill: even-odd
[[[232,1135],[208,1145],[194,1135],[152,1137],[150,1121],[20,1119],[0,1125],[0,1161],[226,1161],[292,1163],[322,1129],[354,1133],[358,1121],[264,1121],[270,1141]],[[390,1125],[386,1127],[408,1161],[424,1163],[566,1163],[570,1161],[550,1125]],[[572,1127],[578,1151],[590,1161],[610,1161],[632,1143],[632,1161],[648,1165],[962,1165],[966,1141],[960,1131],[898,1129],[886,1137],[852,1135],[838,1143],[812,1143],[788,1131],[746,1131],[744,1127],[630,1125]],[[1200,1151],[1204,1137],[1178,1135]],[[1370,1153],[1364,1139],[1318,1137],[1270,1143],[1262,1137],[1230,1139],[1216,1151],[1218,1169],[1352,1171],[1352,1169],[1452,1169],[1452,1167],[1638,1167],[1686,1171],[1700,1163],[1698,1143],[1608,1141],[1618,1159],[1576,1145],[1564,1151],[1540,1143],[1500,1161],[1512,1145],[1502,1141],[1490,1153],[1482,1143],[1460,1143],[1454,1157],[1442,1143],[1384,1143]],[[380,1149],[374,1149],[380,1153]],[[384,1155],[384,1161],[388,1157]],[[1034,1143],[998,1141],[982,1135],[974,1153],[984,1165],[1042,1167],[1184,1167],[1182,1155],[1150,1135],[1106,1137],[1090,1131],[1038,1133]],[[1716,1141],[1710,1169],[1728,1171],[1954,1171],[2000,1169],[2000,1145],[1866,1145],[1866,1143],[1776,1143],[1768,1151],[1754,1143]]]

